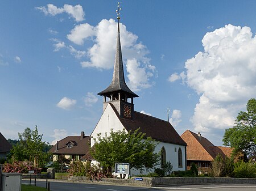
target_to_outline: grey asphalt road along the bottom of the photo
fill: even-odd
[[[31,181],[31,186],[34,181]],[[29,184],[28,180],[22,180],[22,184]],[[36,181],[36,186],[46,188],[46,181]],[[243,184],[243,185],[230,185],[230,184],[208,184],[208,185],[175,185],[175,186],[162,186],[155,188],[142,188],[134,186],[116,186],[116,185],[102,185],[102,184],[83,184],[71,182],[50,182],[51,191],[160,191],[160,190],[193,190],[193,191],[255,191],[256,185]]]

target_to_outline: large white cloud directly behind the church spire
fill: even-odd
[[[148,88],[154,84],[150,79],[156,75],[155,66],[150,64],[146,57],[148,50],[141,42],[137,43],[138,36],[126,30],[120,23],[121,45],[123,61],[126,62],[129,86],[133,91]],[[103,19],[96,27],[89,24],[80,24],[72,29],[67,38],[77,45],[84,44],[85,39],[93,40],[94,44],[87,50],[89,61],[82,61],[82,67],[96,67],[97,69],[111,69],[114,65],[117,22],[113,19]]]

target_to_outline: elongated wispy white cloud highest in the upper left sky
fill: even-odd
[[[44,12],[45,15],[52,16],[66,12],[72,18],[74,18],[76,22],[81,22],[82,20],[84,20],[85,16],[84,10],[82,10],[81,5],[72,6],[65,4],[63,7],[58,8],[55,5],[48,4],[47,6],[36,7],[36,9]]]

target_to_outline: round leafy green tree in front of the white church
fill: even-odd
[[[114,167],[115,163],[129,163],[130,168],[142,171],[143,168],[153,168],[159,162],[159,154],[155,153],[157,143],[151,137],[144,138],[139,132],[110,131],[109,136],[94,138],[94,146],[90,153],[103,167]]]

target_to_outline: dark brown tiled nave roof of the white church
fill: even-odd
[[[187,145],[170,122],[136,111],[134,111],[133,120],[122,118],[119,117],[115,107],[111,103],[110,105],[127,131],[134,131],[140,128],[142,133],[146,134],[146,137],[151,137],[156,141]]]

